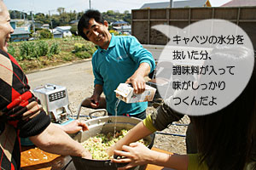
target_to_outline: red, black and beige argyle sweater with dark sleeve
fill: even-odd
[[[20,137],[49,126],[49,116],[29,89],[20,65],[0,49],[0,170],[20,169]]]

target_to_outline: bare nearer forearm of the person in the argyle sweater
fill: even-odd
[[[86,150],[78,142],[71,139],[60,127],[52,123],[44,130],[44,132],[30,137],[33,144],[38,148],[49,153],[70,155],[70,156],[84,156]]]

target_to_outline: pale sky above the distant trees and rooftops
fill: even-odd
[[[168,0],[3,0],[7,8],[20,10],[24,12],[33,11],[33,13],[56,13],[59,7],[65,8],[67,12],[76,10],[77,12],[91,8],[106,12],[108,10],[119,10],[123,13],[125,10],[141,8],[144,3],[169,2]],[[177,1],[177,0],[174,0]],[[192,0],[193,1],[193,0]],[[230,0],[210,0],[213,7],[218,7]]]

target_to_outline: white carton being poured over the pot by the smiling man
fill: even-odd
[[[127,83],[120,83],[119,87],[114,90],[118,99],[123,100],[125,103],[136,103],[152,101],[156,89],[146,85],[145,91],[142,94],[135,94],[133,91],[134,89]]]

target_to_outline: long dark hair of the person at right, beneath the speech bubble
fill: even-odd
[[[225,49],[223,50],[225,51]],[[231,59],[247,59],[248,50],[231,48]],[[221,54],[217,50],[215,54]],[[207,116],[192,116],[201,162],[211,170],[242,170],[256,158],[256,66],[247,87],[224,109]],[[256,164],[255,164],[256,165]],[[256,167],[253,167],[256,169]]]

